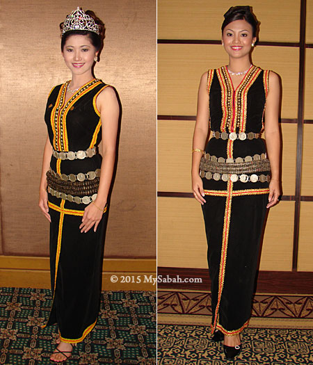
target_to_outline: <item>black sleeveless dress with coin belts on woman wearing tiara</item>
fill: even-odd
[[[81,233],[83,211],[97,197],[102,138],[96,99],[108,85],[93,79],[66,103],[68,83],[50,92],[45,112],[54,149],[47,172],[53,303],[46,325],[58,323],[61,340],[83,341],[97,322],[107,213],[97,232]]]

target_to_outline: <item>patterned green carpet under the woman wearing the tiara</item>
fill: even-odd
[[[56,325],[42,329],[51,291],[0,289],[0,364],[51,364]],[[156,364],[154,291],[104,291],[93,332],[66,364]]]

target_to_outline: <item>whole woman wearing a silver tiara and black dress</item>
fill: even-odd
[[[103,22],[92,11],[77,8],[60,28],[72,79],[52,88],[48,97],[39,199],[50,222],[53,302],[43,327],[58,324],[53,362],[65,362],[97,321],[120,112],[113,88],[93,76]],[[102,156],[97,153],[100,140]]]

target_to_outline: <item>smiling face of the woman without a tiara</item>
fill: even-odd
[[[223,30],[222,43],[225,51],[233,58],[241,58],[250,53],[251,44],[255,43],[252,26],[246,20],[235,20]]]

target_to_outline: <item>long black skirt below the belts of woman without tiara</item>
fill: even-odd
[[[268,193],[232,193],[206,195],[202,205],[211,277],[211,330],[228,335],[248,325],[268,204]]]

